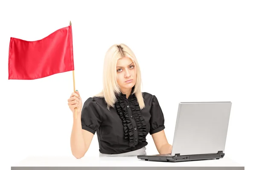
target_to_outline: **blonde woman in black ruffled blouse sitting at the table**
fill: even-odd
[[[171,153],[163,112],[156,96],[141,92],[140,67],[131,49],[124,44],[111,46],[103,70],[101,93],[88,98],[83,107],[78,91],[68,99],[74,117],[70,139],[73,156],[84,156],[95,132],[100,156],[145,155],[148,133],[160,154]]]

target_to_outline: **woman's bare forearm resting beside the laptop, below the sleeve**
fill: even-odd
[[[161,130],[160,132],[152,134],[152,138],[154,140],[154,144],[157,147],[157,151],[160,154],[172,153],[172,145],[168,143],[164,130]]]

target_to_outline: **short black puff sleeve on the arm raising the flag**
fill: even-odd
[[[81,111],[82,129],[95,134],[101,122],[99,105],[94,98],[90,97],[84,102],[84,106]]]

